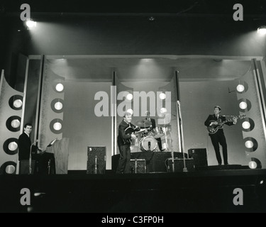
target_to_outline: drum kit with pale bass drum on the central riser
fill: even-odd
[[[141,133],[138,133],[137,139],[133,142],[135,146],[138,146],[142,151],[161,151],[158,145],[157,139],[162,138],[170,130],[170,125],[158,125],[152,128],[153,123],[151,121],[140,120],[137,121],[136,126],[141,128]],[[162,150],[166,150],[163,148]]]

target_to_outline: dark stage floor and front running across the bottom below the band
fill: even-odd
[[[175,173],[1,175],[1,212],[176,213],[266,212],[266,170],[231,166]],[[226,170],[227,168],[227,170]],[[235,166],[232,167],[232,169]],[[31,206],[21,206],[21,189]],[[235,206],[235,189],[243,206]]]

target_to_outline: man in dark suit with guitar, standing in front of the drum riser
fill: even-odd
[[[132,114],[126,112],[123,121],[118,129],[118,148],[120,151],[120,159],[117,173],[131,173],[131,140],[137,137],[134,134],[126,135],[125,130],[131,127]]]

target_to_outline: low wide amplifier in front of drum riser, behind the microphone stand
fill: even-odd
[[[195,171],[193,158],[174,158],[174,172],[184,172],[184,161],[187,172]],[[172,158],[167,159],[167,172],[173,172]]]

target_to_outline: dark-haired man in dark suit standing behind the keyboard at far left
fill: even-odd
[[[31,152],[31,131],[33,126],[26,123],[24,132],[18,138],[18,160],[29,160]]]

